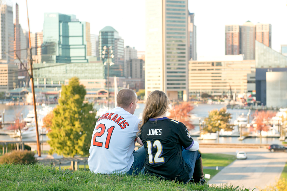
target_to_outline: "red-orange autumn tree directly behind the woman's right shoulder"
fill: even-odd
[[[187,102],[183,102],[182,104],[178,104],[173,107],[168,118],[180,121],[188,130],[194,129],[190,120],[191,110],[193,110],[193,106]]]

